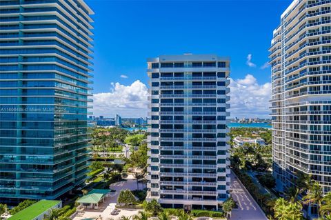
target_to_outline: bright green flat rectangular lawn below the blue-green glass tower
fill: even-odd
[[[60,201],[54,201],[54,200],[38,201],[37,203],[32,204],[28,208],[21,210],[20,212],[17,212],[8,220],[34,219],[35,217],[38,217],[40,214],[43,214],[43,212],[46,212],[53,206],[56,206],[58,203],[60,203]]]

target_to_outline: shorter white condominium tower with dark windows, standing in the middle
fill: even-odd
[[[215,54],[148,59],[148,201],[217,209],[228,198],[229,73],[230,60]]]

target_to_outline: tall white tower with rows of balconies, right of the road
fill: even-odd
[[[294,173],[331,187],[331,3],[293,1],[270,47],[272,157],[279,190]]]

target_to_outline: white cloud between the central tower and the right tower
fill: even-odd
[[[252,74],[230,79],[231,117],[269,118],[271,83],[259,84]]]

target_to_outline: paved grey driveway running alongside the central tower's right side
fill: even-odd
[[[261,210],[257,202],[238,181],[232,171],[230,177],[232,198],[238,203],[238,209],[232,210],[231,220],[267,220],[267,217],[265,217],[264,212]]]

